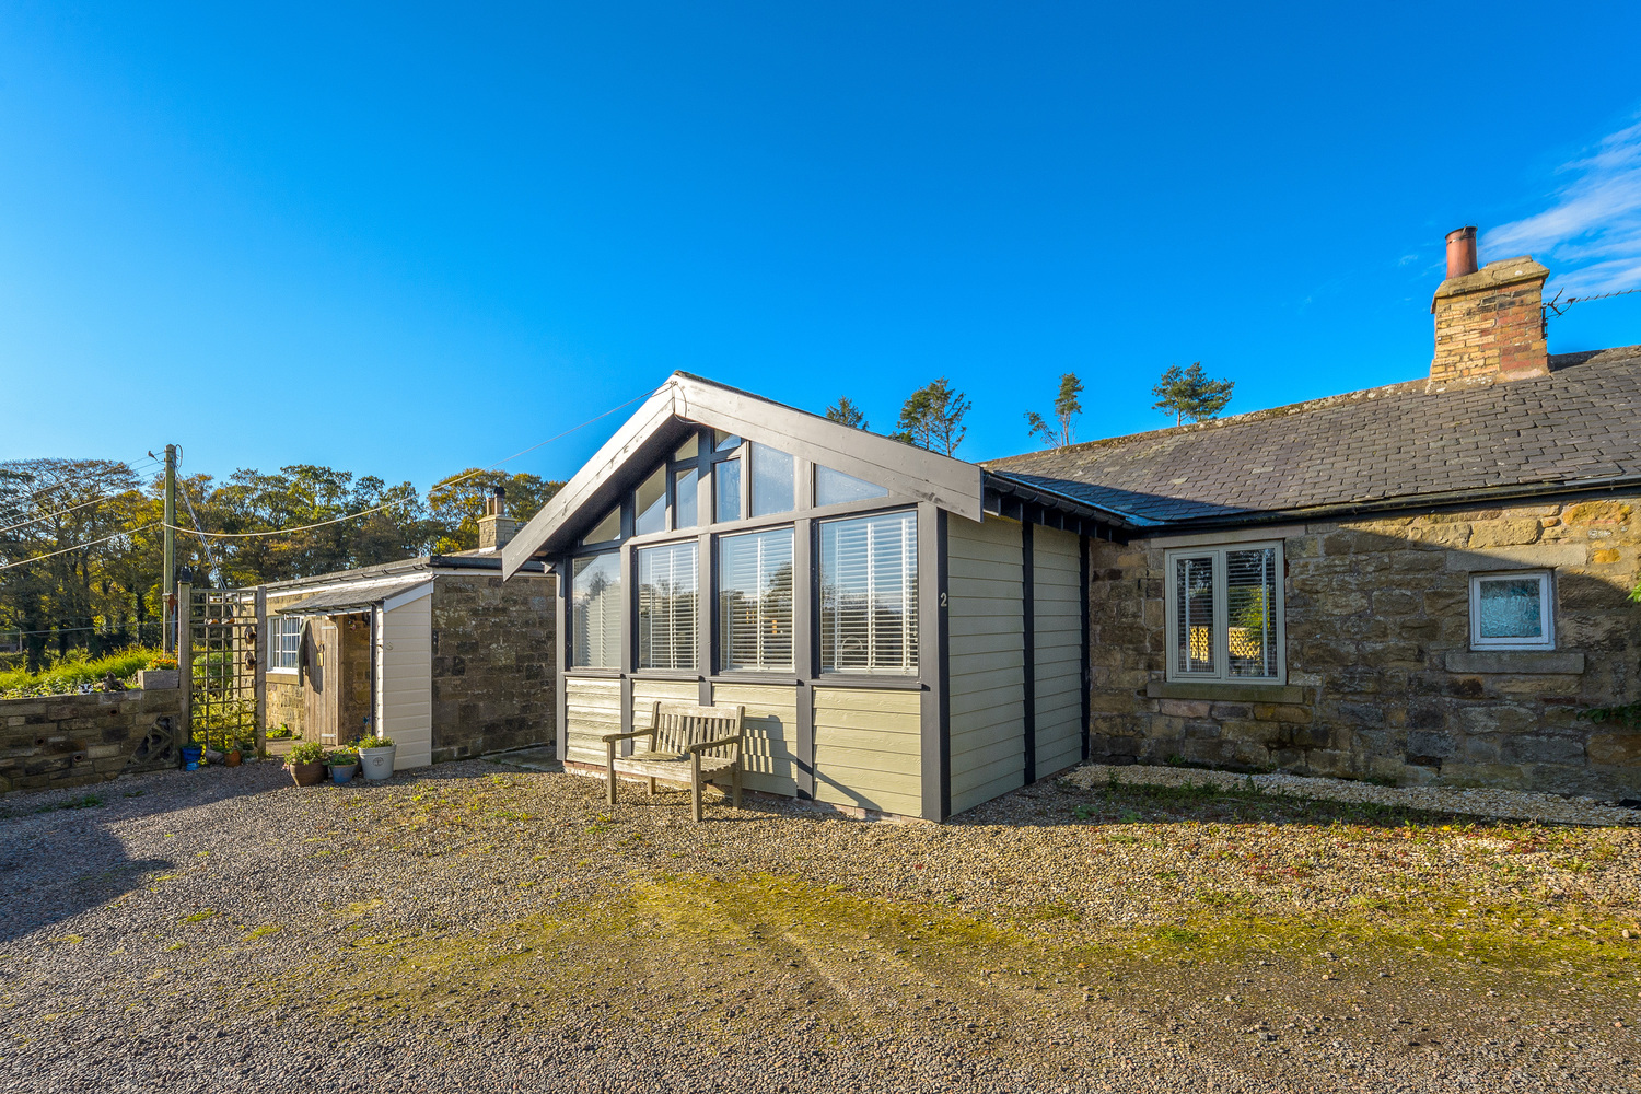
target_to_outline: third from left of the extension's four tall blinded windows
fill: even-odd
[[[793,669],[791,528],[719,540],[719,641],[725,672]]]

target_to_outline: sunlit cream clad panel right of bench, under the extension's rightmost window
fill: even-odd
[[[922,814],[922,694],[816,687],[816,799]]]

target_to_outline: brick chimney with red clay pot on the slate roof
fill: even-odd
[[[1549,376],[1544,279],[1529,256],[1475,267],[1475,228],[1447,233],[1447,280],[1436,317],[1433,381],[1524,381]]]

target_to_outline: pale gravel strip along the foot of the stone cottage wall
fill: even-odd
[[[1145,764],[1085,764],[1067,776],[1073,786],[1098,789],[1113,779],[1144,786],[1218,786],[1224,789],[1257,787],[1265,794],[1291,794],[1329,802],[1374,802],[1405,809],[1498,817],[1506,820],[1543,820],[1562,825],[1638,825],[1641,810],[1592,797],[1561,797],[1528,791],[1488,787],[1375,786],[1347,779],[1313,779],[1296,774],[1232,774],[1229,771],[1196,771],[1193,768],[1150,768]]]

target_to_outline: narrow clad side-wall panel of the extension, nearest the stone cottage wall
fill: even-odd
[[[1037,695],[1037,777],[1083,758],[1081,543],[1070,531],[1032,528],[1032,630]]]

